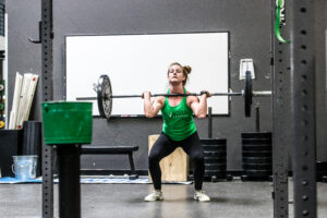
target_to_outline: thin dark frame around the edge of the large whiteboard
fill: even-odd
[[[182,35],[182,34],[219,34],[219,33],[223,33],[227,34],[227,87],[228,87],[228,92],[230,90],[230,32],[229,31],[217,31],[217,32],[184,32],[184,33],[144,33],[144,34],[140,34],[140,33],[133,33],[133,34],[125,34],[125,33],[117,33],[117,34],[66,34],[64,36],[64,44],[63,44],[63,72],[64,72],[64,97],[63,99],[66,100],[66,39],[68,37],[85,37],[85,36],[138,36],[138,35]],[[168,69],[168,66],[167,66]],[[97,82],[97,81],[96,81]],[[112,85],[112,81],[111,81],[111,85]],[[191,90],[192,92],[192,90]],[[193,92],[192,92],[193,93]],[[116,95],[113,93],[113,95]],[[96,97],[96,94],[94,95],[94,97]],[[94,104],[97,104],[96,101],[94,101]],[[114,107],[114,104],[113,104]],[[213,113],[213,117],[230,117],[231,113],[231,98],[228,97],[227,98],[227,113]],[[193,114],[194,116],[194,114]],[[93,114],[94,118],[101,118],[100,116],[95,116]],[[144,114],[111,114],[111,118],[145,118]],[[161,114],[158,113],[157,116],[155,116],[155,118],[161,118]]]

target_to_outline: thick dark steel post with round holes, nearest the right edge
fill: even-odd
[[[317,217],[314,3],[291,0],[291,102],[294,217]],[[322,5],[323,7],[323,5]]]

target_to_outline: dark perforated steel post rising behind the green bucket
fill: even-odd
[[[53,100],[52,0],[41,0],[41,89],[43,101]],[[43,217],[53,217],[53,148],[43,143]]]

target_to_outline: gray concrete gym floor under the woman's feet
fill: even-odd
[[[290,201],[292,199],[290,182]],[[55,217],[58,217],[55,185]],[[165,201],[146,203],[152,184],[82,184],[83,218],[256,218],[272,217],[271,182],[207,182],[210,203],[193,201],[193,184],[166,184]],[[317,183],[318,217],[327,217],[327,183]],[[41,184],[0,184],[1,218],[41,217]],[[293,217],[292,204],[289,205]]]

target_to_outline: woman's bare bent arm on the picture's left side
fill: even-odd
[[[144,92],[143,98],[144,98],[144,114],[147,118],[155,117],[159,112],[159,110],[164,107],[165,101],[162,101],[162,96],[156,97],[154,99],[154,102],[152,102],[150,93]],[[164,97],[164,99],[165,99],[165,97]]]

